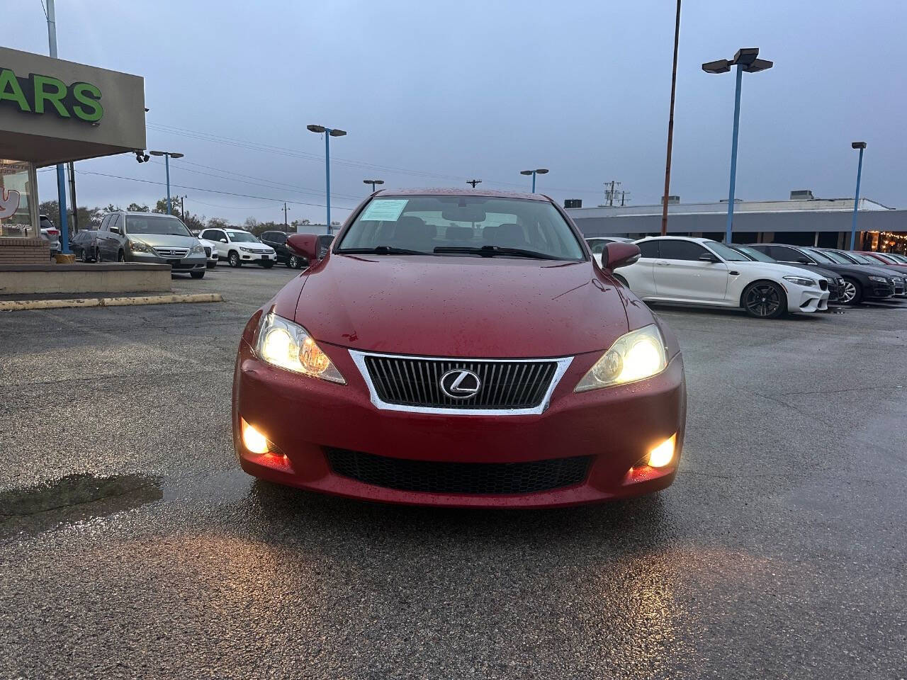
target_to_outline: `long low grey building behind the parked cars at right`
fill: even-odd
[[[571,202],[567,202],[568,206]],[[587,237],[643,238],[661,233],[662,206],[568,208]],[[736,200],[735,243],[789,243],[822,248],[849,248],[853,198],[820,199],[810,190],[791,191],[788,200]],[[723,240],[727,200],[681,203],[668,199],[668,234]],[[856,248],[907,252],[907,210],[860,199]]]

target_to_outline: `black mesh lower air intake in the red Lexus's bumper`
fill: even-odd
[[[586,479],[590,456],[529,462],[412,461],[326,448],[336,474],[396,491],[522,494],[551,491]]]

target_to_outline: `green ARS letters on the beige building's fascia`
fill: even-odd
[[[19,77],[0,67],[0,107],[24,113],[52,113],[60,118],[97,123],[104,110],[101,89],[92,83],[66,85],[59,78],[39,73]]]

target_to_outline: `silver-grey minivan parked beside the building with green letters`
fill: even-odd
[[[112,212],[102,219],[97,238],[99,262],[170,265],[172,271],[192,278],[205,276],[205,248],[173,215]]]

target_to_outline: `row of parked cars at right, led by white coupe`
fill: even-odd
[[[609,242],[588,239],[601,262]],[[907,258],[775,243],[747,246],[708,238],[641,238],[639,259],[615,274],[647,302],[742,308],[750,316],[824,311],[829,302],[907,297]]]

